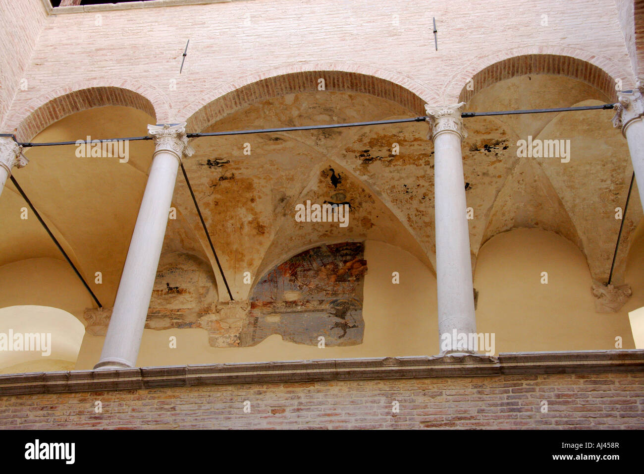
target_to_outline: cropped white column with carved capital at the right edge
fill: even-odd
[[[636,90],[618,92],[620,101],[615,108],[617,114],[612,119],[616,128],[621,128],[621,133],[629,144],[630,161],[633,163],[635,181],[638,183],[639,200],[644,206],[644,83],[638,79]]]

